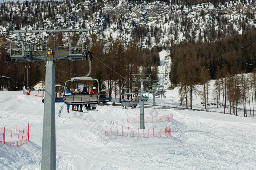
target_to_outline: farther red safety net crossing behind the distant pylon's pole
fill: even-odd
[[[173,114],[170,115],[164,115],[164,116],[153,116],[153,117],[144,117],[145,123],[153,123],[153,122],[163,122],[173,120]],[[129,123],[140,123],[140,117],[129,117],[127,118],[127,122]]]

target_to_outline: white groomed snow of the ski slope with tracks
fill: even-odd
[[[161,63],[166,51],[160,53]],[[161,66],[159,67],[161,68]],[[161,72],[161,70],[159,70]],[[170,83],[170,82],[167,82]],[[212,83],[211,83],[212,84]],[[165,87],[167,84],[165,84]],[[145,104],[153,104],[149,95]],[[179,106],[178,87],[167,90],[156,105]],[[29,123],[30,141],[22,146],[0,145],[0,169],[41,169],[44,104],[22,91],[0,91],[0,127],[18,130]],[[118,103],[117,98],[113,101]],[[212,101],[211,102],[216,102]],[[193,108],[204,109],[200,97]],[[98,106],[87,113],[55,104],[56,168],[60,169],[256,169],[256,120],[248,117],[192,110],[144,108],[145,116],[173,114],[174,120],[145,123],[145,129],[172,128],[172,137],[105,136],[106,126],[139,128],[128,116],[140,108]],[[223,108],[210,106],[212,111]],[[240,111],[238,115],[243,115]]]

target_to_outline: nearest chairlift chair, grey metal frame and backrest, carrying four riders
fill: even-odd
[[[65,89],[68,82],[74,81],[83,81],[83,80],[96,80],[99,89],[99,81],[97,79],[93,79],[91,77],[73,77],[71,80],[65,82],[64,91],[63,91],[63,100],[65,104],[97,104],[99,103],[99,93],[95,94],[73,94],[73,95],[65,95]]]

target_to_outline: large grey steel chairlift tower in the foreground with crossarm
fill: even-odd
[[[89,61],[91,72],[91,60],[93,53],[90,52],[87,47],[80,45],[84,35],[87,32],[93,31],[93,29],[58,29],[58,30],[12,30],[9,33],[16,34],[18,37],[18,43],[22,48],[13,48],[11,43],[10,53],[7,56],[7,62],[34,62],[45,61],[45,102],[44,102],[44,125],[43,125],[43,140],[42,140],[42,170],[56,170],[56,139],[55,139],[55,62],[57,60],[86,60]],[[20,33],[51,33],[51,32],[82,32],[76,45],[71,46],[71,42],[68,42],[68,50],[58,50],[55,47],[48,48],[46,51],[36,51],[34,45],[30,41],[23,41]],[[15,42],[17,43],[17,41]],[[17,45],[17,44],[16,44]],[[46,46],[45,46],[46,47]],[[88,76],[88,74],[86,75]]]

